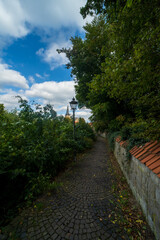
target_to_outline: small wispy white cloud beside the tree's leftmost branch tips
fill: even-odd
[[[68,62],[65,53],[58,54],[57,49],[70,48],[71,42],[52,43],[47,50],[43,48],[37,51],[37,55],[41,56],[43,60],[50,64],[53,70],[56,67],[62,66]]]

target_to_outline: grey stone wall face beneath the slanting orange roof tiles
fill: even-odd
[[[134,156],[128,159],[119,142],[115,142],[114,154],[156,239],[160,240],[160,178]]]

